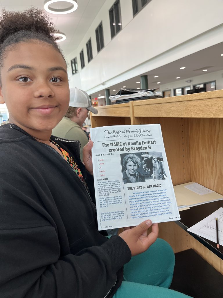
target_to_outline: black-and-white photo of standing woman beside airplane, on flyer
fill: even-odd
[[[164,180],[167,175],[163,165],[163,155],[160,151],[142,152],[142,164],[145,175],[145,181],[147,180]]]

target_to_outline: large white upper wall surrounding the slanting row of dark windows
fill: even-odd
[[[107,0],[80,45],[68,55],[77,57],[79,73],[71,74],[71,87],[89,94],[141,75],[149,70],[223,41],[222,0],[152,0],[134,18],[132,1],[120,0],[122,30],[111,40]],[[105,47],[97,53],[95,29],[103,24]],[[93,59],[87,62],[91,38]],[[84,49],[85,67],[80,55]]]

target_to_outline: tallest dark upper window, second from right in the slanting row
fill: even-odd
[[[109,10],[111,35],[114,37],[122,29],[121,9],[119,0]]]

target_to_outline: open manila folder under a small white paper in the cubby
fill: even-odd
[[[223,199],[222,195],[213,191],[205,195],[199,195],[185,187],[193,184],[194,182],[192,181],[175,185],[173,187],[179,211],[184,210],[184,208],[187,207],[197,206],[207,202],[213,202]]]

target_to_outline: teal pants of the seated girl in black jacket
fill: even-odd
[[[113,298],[186,298],[169,289],[175,256],[171,246],[157,239],[146,252],[131,258],[124,266],[124,280]]]

